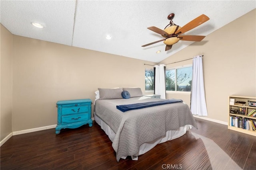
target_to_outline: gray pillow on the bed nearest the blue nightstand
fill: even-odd
[[[123,88],[98,88],[100,99],[122,99]]]

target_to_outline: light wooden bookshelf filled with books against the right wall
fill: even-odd
[[[230,103],[230,99],[234,99],[234,104]],[[236,103],[237,101],[246,103],[239,104]],[[251,123],[246,123],[252,120],[256,124],[256,117],[248,116],[248,113],[256,107],[249,106],[248,101],[256,102],[256,96],[228,96],[228,129],[256,136],[256,131],[250,125]],[[234,113],[231,113],[231,109]]]

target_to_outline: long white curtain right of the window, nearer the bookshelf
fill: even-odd
[[[207,116],[206,101],[204,96],[204,78],[202,57],[193,58],[193,73],[191,87],[191,112],[194,115]]]

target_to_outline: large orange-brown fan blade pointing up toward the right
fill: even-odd
[[[208,16],[202,14],[199,17],[195,18],[194,20],[190,21],[189,23],[187,23],[186,25],[184,25],[183,27],[181,27],[178,32],[175,35],[180,35],[183,34],[199,25],[201,25],[202,23],[206,22],[210,20],[210,18],[208,18]]]

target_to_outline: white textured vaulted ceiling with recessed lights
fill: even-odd
[[[0,21],[14,35],[158,63],[193,42],[179,41],[169,51],[163,42],[141,47],[162,39],[147,27],[164,29],[171,13],[181,27],[205,14],[210,20],[184,35],[208,35],[255,9],[256,1],[1,0],[0,6]]]

